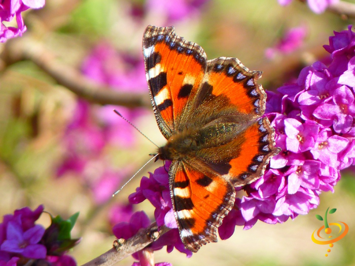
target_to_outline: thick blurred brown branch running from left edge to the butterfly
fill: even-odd
[[[119,92],[110,87],[95,84],[86,79],[74,67],[57,60],[54,55],[29,34],[26,37],[9,40],[5,51],[2,53],[2,59],[7,64],[20,60],[31,60],[48,73],[58,84],[94,103],[151,108],[148,93]]]

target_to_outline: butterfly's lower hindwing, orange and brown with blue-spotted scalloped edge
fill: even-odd
[[[201,148],[196,153],[196,159],[234,186],[242,186],[264,174],[266,165],[278,149],[274,146],[274,133],[268,119],[233,126],[238,133],[230,141]],[[218,127],[227,128],[228,124],[221,123]]]

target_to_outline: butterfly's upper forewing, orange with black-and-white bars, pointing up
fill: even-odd
[[[155,26],[148,26],[144,33],[143,54],[155,116],[169,138],[200,87],[206,55],[197,44],[177,36],[173,27]]]

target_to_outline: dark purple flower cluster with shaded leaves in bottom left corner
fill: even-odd
[[[0,266],[25,265],[30,260],[36,265],[76,266],[65,253],[78,240],[60,239],[61,221],[52,221],[47,229],[34,223],[43,209],[42,205],[34,211],[25,207],[4,216],[0,223]]]

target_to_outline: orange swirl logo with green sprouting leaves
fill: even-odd
[[[335,242],[339,241],[340,239],[342,239],[343,237],[345,237],[345,235],[349,231],[349,226],[345,222],[341,222],[341,221],[339,221],[339,222],[342,223],[343,226],[340,223],[337,223],[337,222],[331,222],[331,223],[328,224],[328,214],[334,213],[337,209],[331,209],[329,212],[328,212],[328,210],[329,210],[329,207],[328,207],[328,209],[326,211],[326,215],[324,216],[324,225],[322,227],[320,227],[318,230],[314,230],[314,232],[312,233],[312,241],[315,244],[318,244],[318,245],[327,245],[327,244],[329,244],[329,247],[332,248],[334,246],[333,243],[335,243]],[[315,217],[318,220],[323,221],[323,217],[321,215],[316,214]],[[330,235],[332,233],[332,229],[331,229],[331,227],[329,227],[329,225],[334,225],[334,226],[337,226],[339,228],[339,232],[336,233],[336,237],[333,238],[333,236],[329,236],[328,238],[332,238],[332,239],[330,239],[330,240],[318,240],[318,239],[324,239],[323,237],[321,237],[321,232],[322,232],[323,229],[324,229],[324,232],[327,235]],[[343,230],[343,227],[344,227],[344,230]],[[318,239],[316,239],[314,237],[315,231],[317,231],[316,235],[317,235]],[[337,230],[335,232],[337,232]],[[329,253],[330,249],[328,249],[327,252]],[[326,254],[326,257],[328,257],[328,253]]]

